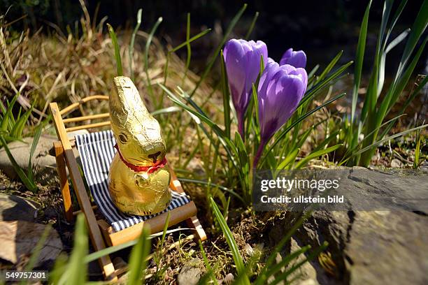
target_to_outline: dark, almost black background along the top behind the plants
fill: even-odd
[[[192,31],[195,35],[206,28],[213,31],[197,42],[192,43],[193,68],[199,69],[220,41],[222,31],[227,28],[230,20],[243,3],[248,3],[240,22],[236,25],[232,37],[245,36],[252,17],[256,11],[260,15],[255,29],[250,36],[252,39],[264,41],[269,47],[269,56],[279,61],[287,48],[305,50],[308,55],[308,68],[320,63],[325,65],[340,50],[344,50],[342,62],[349,61],[355,56],[359,25],[364,10],[369,1],[365,0],[325,0],[325,1],[85,1],[89,13],[94,18],[99,4],[97,21],[107,16],[106,22],[115,29],[131,29],[136,22],[138,8],[143,8],[143,24],[141,29],[150,31],[158,17],[164,21],[159,26],[157,37],[162,41],[178,45],[185,41],[187,12],[191,13]],[[395,1],[398,6],[400,1]],[[397,36],[407,27],[411,27],[418,13],[422,0],[409,0],[404,13],[397,24],[391,38]],[[12,5],[12,6],[11,6]],[[10,7],[11,6],[11,7]],[[8,22],[27,15],[23,20],[13,24],[14,29],[31,28],[31,31],[43,27],[47,32],[47,22],[57,24],[66,31],[66,26],[74,27],[74,23],[83,15],[78,0],[0,0],[1,13],[8,9]],[[370,68],[373,52],[376,47],[376,36],[382,15],[383,1],[374,0],[369,17],[369,35],[367,38],[365,68]],[[393,10],[394,12],[394,10]],[[395,70],[404,44],[390,52],[387,60],[387,72]],[[184,56],[185,49],[179,55]],[[425,68],[426,55],[422,57],[419,69]],[[390,65],[390,66],[388,66]]]

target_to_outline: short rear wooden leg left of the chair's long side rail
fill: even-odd
[[[69,180],[67,179],[65,158],[64,158],[64,149],[62,148],[61,142],[53,143],[55,149],[55,160],[57,161],[57,171],[59,177],[59,188],[62,193],[62,200],[64,203],[64,212],[66,220],[71,222],[73,221],[73,207],[71,203]]]

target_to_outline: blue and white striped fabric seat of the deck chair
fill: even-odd
[[[171,190],[171,204],[163,212],[148,216],[131,216],[120,212],[113,204],[108,192],[108,170],[116,152],[113,147],[115,144],[112,131],[99,131],[76,136],[76,145],[80,154],[83,173],[92,197],[116,232],[190,202],[190,197],[185,193]]]

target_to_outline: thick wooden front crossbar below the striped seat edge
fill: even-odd
[[[176,207],[169,212],[171,213],[169,217],[169,226],[173,226],[196,215],[197,208],[196,205],[194,205],[194,202],[190,201],[190,203],[187,203],[181,207]],[[135,240],[141,235],[143,226],[150,226],[150,234],[159,233],[164,229],[166,217],[168,217],[168,212],[159,214],[159,216],[148,219],[147,221],[142,221],[141,223],[130,226],[129,228],[125,228],[124,230],[117,233],[113,233],[113,228],[111,228],[111,226],[104,228],[104,236],[108,236],[108,238],[110,238],[110,240],[106,240],[106,242],[108,245],[114,246]]]

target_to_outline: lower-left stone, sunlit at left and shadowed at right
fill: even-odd
[[[0,258],[14,264],[29,258],[47,227],[29,221],[0,221]],[[52,265],[61,251],[61,239],[51,228],[34,268],[46,263]]]

